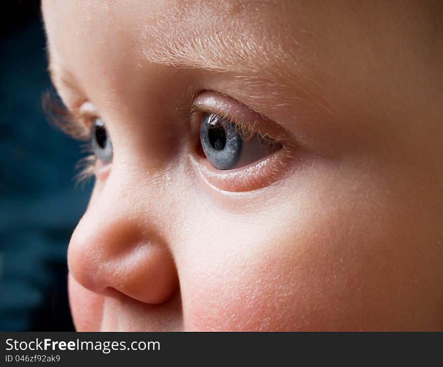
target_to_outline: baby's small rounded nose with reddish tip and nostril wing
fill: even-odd
[[[68,247],[69,271],[85,288],[99,294],[117,290],[152,304],[178,289],[174,258],[159,227],[165,221],[157,185],[150,184],[140,188],[135,176],[115,171],[93,195]]]

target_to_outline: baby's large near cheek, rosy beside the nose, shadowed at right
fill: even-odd
[[[292,218],[297,225],[290,232],[280,225],[288,218],[238,228],[237,234],[217,233],[205,224],[206,233],[199,234],[212,241],[188,257],[192,264],[182,277],[185,327],[371,331],[431,330],[441,324],[435,313],[441,302],[429,302],[435,292],[441,294],[436,261],[423,267],[431,263],[426,249],[414,251],[414,244],[399,239],[400,230],[374,230],[374,221],[360,222],[357,212],[351,214],[331,210]],[[337,223],[352,223],[352,232]],[[232,244],[232,238],[238,241]]]

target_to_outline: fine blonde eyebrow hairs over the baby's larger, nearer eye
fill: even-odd
[[[302,68],[297,62],[301,53],[297,52],[300,45],[295,39],[286,39],[283,44],[275,35],[263,38],[263,34],[246,28],[241,32],[228,27],[198,32],[192,26],[174,29],[170,24],[167,28],[167,32],[156,24],[143,28],[140,53],[145,60],[272,79],[278,75],[286,75],[287,79],[288,73],[299,73]]]

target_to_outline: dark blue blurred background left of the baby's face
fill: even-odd
[[[36,1],[0,6],[0,330],[69,331],[66,249],[91,184],[75,188],[80,143],[51,127]]]

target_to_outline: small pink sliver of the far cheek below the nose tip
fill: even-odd
[[[100,331],[104,297],[82,287],[68,275],[69,304],[77,331]]]

